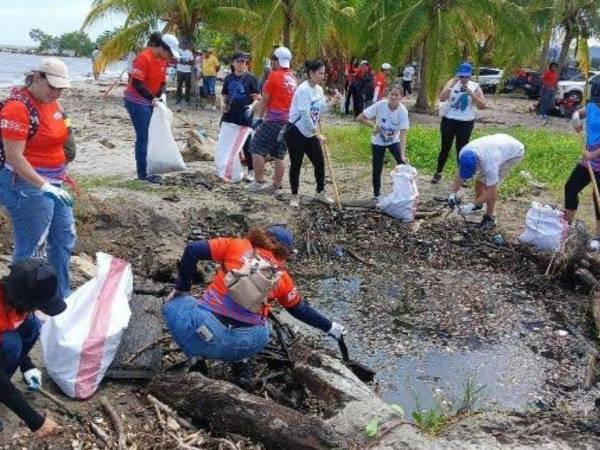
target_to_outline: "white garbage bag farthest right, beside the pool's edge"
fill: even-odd
[[[525,218],[525,231],[519,240],[540,250],[556,252],[567,238],[569,224],[564,213],[550,205],[531,202]]]

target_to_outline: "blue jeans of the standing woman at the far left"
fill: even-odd
[[[75,246],[73,208],[45,197],[14,172],[0,169],[0,204],[12,222],[13,261],[48,258],[58,276],[58,293],[70,293],[69,264]]]

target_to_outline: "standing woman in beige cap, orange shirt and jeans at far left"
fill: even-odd
[[[13,262],[47,255],[66,297],[75,219],[63,189],[69,132],[58,98],[71,87],[69,71],[59,59],[44,58],[27,80],[0,109],[0,204],[12,222]]]

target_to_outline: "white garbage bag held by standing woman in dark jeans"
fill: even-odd
[[[146,156],[148,175],[157,175],[185,170],[185,163],[171,132],[173,113],[163,102],[152,110],[148,129],[148,154]]]

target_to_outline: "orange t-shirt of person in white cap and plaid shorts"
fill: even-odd
[[[296,77],[289,69],[278,69],[269,74],[263,87],[263,92],[269,94],[266,121],[287,122],[297,84]]]

